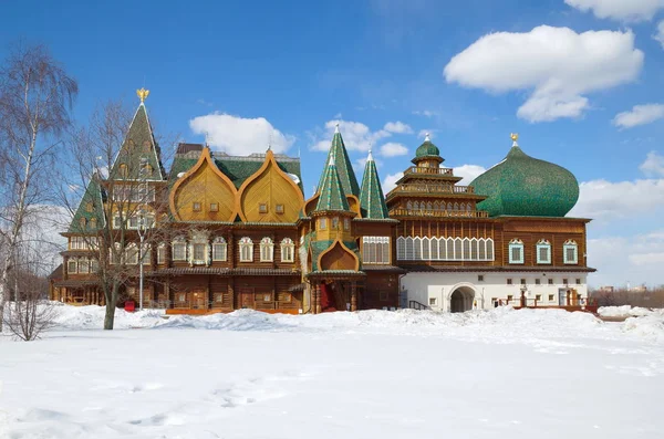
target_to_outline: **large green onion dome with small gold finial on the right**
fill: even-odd
[[[549,161],[532,158],[513,145],[502,161],[469,186],[488,197],[477,205],[491,217],[564,217],[579,199],[579,182],[572,173]]]

